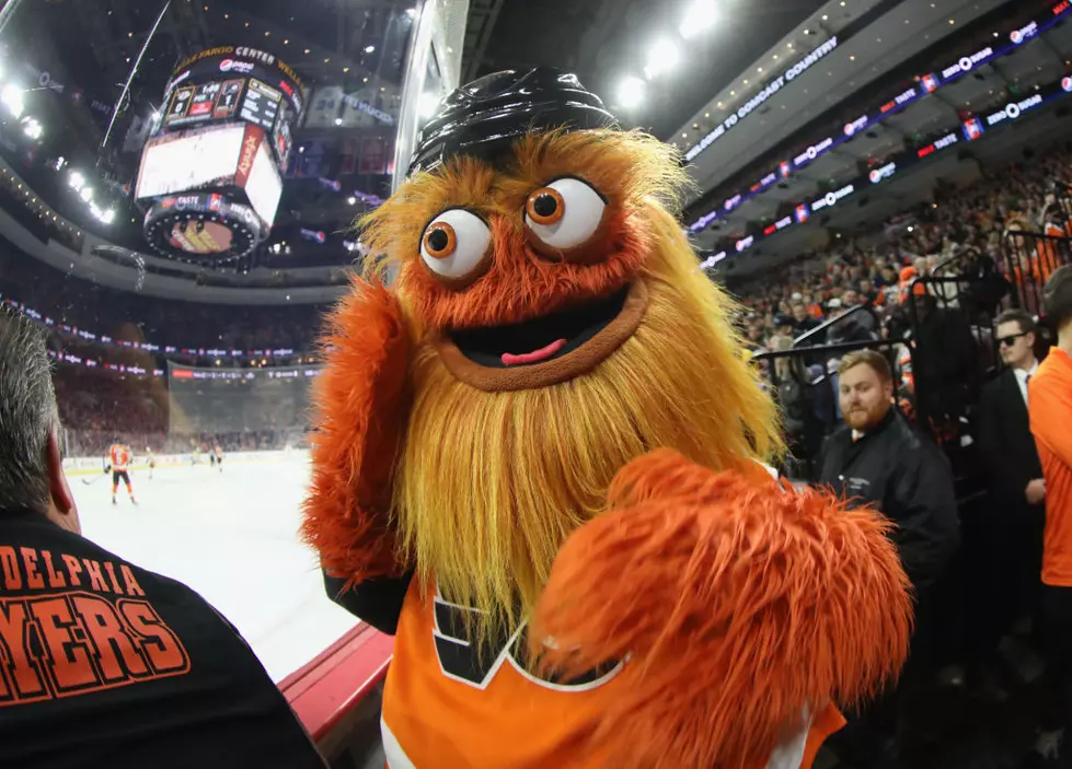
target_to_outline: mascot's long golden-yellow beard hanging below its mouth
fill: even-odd
[[[646,214],[659,244],[638,278],[647,313],[593,371],[488,393],[456,380],[427,340],[415,353],[394,487],[400,557],[483,613],[479,637],[531,616],[562,543],[606,509],[631,459],[671,447],[726,469],[781,447],[774,408],[737,354],[729,301],[673,219],[654,205]]]

